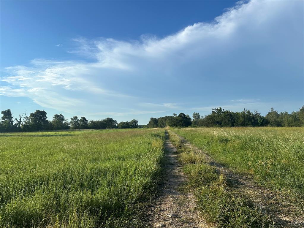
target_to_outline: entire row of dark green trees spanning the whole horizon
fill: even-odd
[[[111,129],[111,128],[156,128],[156,127],[240,127],[240,126],[304,126],[304,105],[295,112],[278,112],[273,108],[262,116],[261,113],[250,110],[232,112],[221,107],[212,109],[211,113],[201,116],[194,112],[191,116],[184,113],[160,118],[151,117],[147,125],[139,125],[136,119],[130,122],[120,122],[108,117],[100,120],[88,120],[85,116],[78,118],[73,116],[68,121],[64,116],[55,114],[52,120],[47,119],[47,112],[36,110],[27,116],[26,112],[19,115],[19,119],[13,118],[10,109],[1,112],[1,132],[15,131],[40,131],[40,130],[68,130],[68,129]]]

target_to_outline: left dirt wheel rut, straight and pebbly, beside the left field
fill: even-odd
[[[206,222],[196,210],[193,194],[183,191],[187,177],[178,165],[176,149],[166,132],[166,157],[164,164],[164,182],[161,195],[151,208],[151,227],[207,227]]]

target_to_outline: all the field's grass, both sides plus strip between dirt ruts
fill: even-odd
[[[275,227],[270,213],[172,132],[298,205],[292,213],[303,212],[304,128],[169,130],[211,226]],[[0,140],[0,227],[148,225],[144,208],[161,180],[163,129],[2,133]]]

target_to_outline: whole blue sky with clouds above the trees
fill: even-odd
[[[118,122],[304,105],[304,1],[1,1],[0,108]]]

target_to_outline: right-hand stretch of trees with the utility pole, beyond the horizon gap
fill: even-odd
[[[278,112],[273,108],[262,116],[260,112],[244,110],[243,112],[232,112],[221,107],[212,109],[211,113],[201,116],[199,112],[194,112],[192,118],[187,114],[180,113],[173,116],[160,118],[151,117],[147,127],[240,127],[240,126],[304,126],[304,105],[295,112]]]

